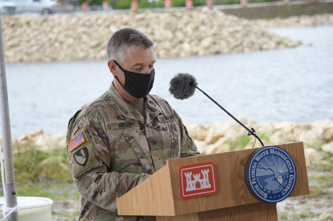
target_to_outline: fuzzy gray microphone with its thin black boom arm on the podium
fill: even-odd
[[[231,113],[225,110],[221,105],[219,105],[216,101],[214,101],[209,95],[207,95],[204,91],[198,88],[198,83],[193,75],[188,73],[178,73],[174,75],[174,77],[170,80],[169,92],[173,95],[175,99],[184,100],[192,97],[194,95],[195,88],[201,91],[207,98],[209,98],[212,102],[214,102],[219,108],[221,108],[224,112],[226,112],[230,117],[232,117],[237,123],[239,123],[242,127],[244,127],[248,133],[247,135],[253,135],[256,139],[259,140],[261,146],[264,146],[254,128],[247,128],[244,124],[242,124],[239,120],[236,119]],[[254,146],[254,145],[253,145]]]

